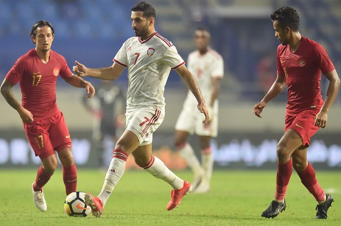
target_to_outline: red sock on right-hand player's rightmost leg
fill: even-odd
[[[321,186],[316,180],[315,177],[315,170],[314,168],[308,163],[307,168],[302,172],[298,173],[302,184],[308,189],[310,193],[312,193],[316,199],[316,201],[323,201],[324,200],[324,191],[322,190]]]

